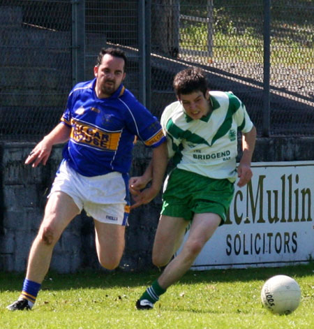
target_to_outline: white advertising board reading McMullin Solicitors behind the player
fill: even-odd
[[[192,269],[282,266],[314,258],[314,161],[252,163],[227,220]]]

